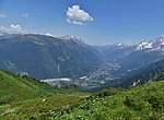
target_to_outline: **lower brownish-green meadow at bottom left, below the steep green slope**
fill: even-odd
[[[68,105],[74,106],[83,97],[85,97],[85,94],[70,93],[3,105],[0,106],[0,120],[30,120],[32,118],[35,118],[32,120],[47,120],[51,116],[50,111],[65,108]]]

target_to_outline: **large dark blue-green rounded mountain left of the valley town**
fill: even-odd
[[[75,37],[32,34],[1,39],[0,56],[0,69],[35,79],[82,76],[101,62],[98,52]]]

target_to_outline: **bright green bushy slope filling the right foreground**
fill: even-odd
[[[55,120],[164,120],[164,81],[127,91],[104,91],[51,115]]]

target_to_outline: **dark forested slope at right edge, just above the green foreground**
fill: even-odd
[[[164,60],[161,60],[155,63],[151,63],[148,67],[137,71],[134,74],[131,74],[128,77],[124,79],[119,86],[130,87],[136,86],[137,84],[145,84],[151,81],[159,81],[163,73]]]

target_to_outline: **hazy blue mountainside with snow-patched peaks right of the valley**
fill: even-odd
[[[141,69],[164,59],[164,36],[139,44],[115,44],[95,47],[106,61],[116,61],[120,72]]]

